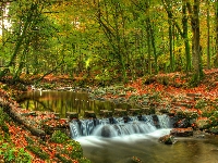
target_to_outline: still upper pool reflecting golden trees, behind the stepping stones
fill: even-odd
[[[85,111],[113,111],[114,108],[128,109],[130,105],[110,101],[90,100],[86,92],[72,91],[32,91],[23,95],[19,101],[22,108],[32,111],[52,111],[65,117],[66,112],[77,112],[80,117]]]

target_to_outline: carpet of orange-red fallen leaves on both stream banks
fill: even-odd
[[[218,111],[218,70],[208,70],[205,72],[205,78],[202,80],[202,83],[196,87],[190,86],[190,78],[185,74],[181,73],[171,73],[171,74],[158,74],[152,77],[142,77],[136,80],[131,80],[128,84],[123,85],[122,87],[117,87],[116,93],[111,91],[107,91],[104,93],[95,93],[96,97],[101,97],[104,99],[128,99],[130,100],[132,97],[134,98],[134,102],[137,103],[137,105],[143,106],[144,100],[143,98],[138,97],[153,97],[153,101],[149,101],[150,103],[155,104],[155,106],[159,108],[159,111],[164,109],[168,109],[168,112],[177,112],[177,110],[182,110],[183,112],[191,112],[198,114],[198,121],[202,120],[205,122],[205,120],[208,120],[208,116],[205,116],[206,113],[213,113],[214,121],[218,121],[218,116],[214,116],[214,113]],[[64,82],[63,82],[64,80]],[[72,86],[76,83],[80,83],[80,79],[75,79],[74,82],[71,82],[71,79],[68,76],[53,76],[48,75],[44,79],[44,85],[50,85],[56,83],[56,86],[60,85],[61,87],[64,86]],[[10,85],[7,86],[7,84],[0,83],[0,92],[1,97],[0,99],[4,99],[5,97],[9,97],[7,100],[11,103],[16,104],[16,102],[13,100],[14,96],[17,96],[21,93],[21,85]],[[23,86],[27,89],[31,88],[31,86]],[[116,88],[116,86],[113,86]],[[98,86],[92,86],[92,89],[98,90],[101,89]],[[24,89],[25,90],[25,89]],[[97,91],[95,91],[97,92]],[[1,118],[2,120],[2,118]],[[2,120],[4,121],[4,120]],[[199,123],[198,125],[201,125]],[[41,142],[41,139],[33,136],[31,131],[25,129],[23,125],[19,125],[17,123],[13,122],[12,120],[5,121],[5,125],[8,126],[8,134],[9,138],[3,138],[0,140],[0,162],[3,161],[5,154],[5,147],[3,145],[10,143],[12,146],[13,151],[15,152],[15,155],[17,154],[17,149],[24,149],[29,155],[32,155],[32,162],[39,163],[39,162],[46,162],[44,159],[39,158],[38,155],[31,152],[28,149],[26,149],[28,145],[28,139],[26,137],[31,138],[32,141],[34,141],[36,145],[40,147],[44,151],[47,152],[50,160],[55,160],[56,152],[57,152],[57,146],[51,143],[49,141]],[[216,127],[216,126],[215,126]],[[5,129],[0,128],[1,135],[5,135]],[[49,148],[48,148],[49,147]],[[60,147],[64,148],[64,147]],[[15,149],[15,150],[14,150]],[[11,160],[13,160],[15,155],[12,154],[12,152],[8,151],[8,156],[11,154]],[[17,156],[17,155],[16,155]],[[71,162],[78,162],[76,160],[71,160]]]

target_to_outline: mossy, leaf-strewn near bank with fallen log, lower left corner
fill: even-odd
[[[90,162],[83,158],[81,145],[66,134],[55,130],[48,137],[38,128],[37,121],[55,118],[55,115],[44,114],[36,121],[7,91],[1,90],[0,95],[0,162]]]

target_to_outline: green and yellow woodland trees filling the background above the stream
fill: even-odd
[[[125,83],[182,72],[198,84],[204,68],[218,66],[217,0],[3,0],[0,5],[0,80],[52,73]]]

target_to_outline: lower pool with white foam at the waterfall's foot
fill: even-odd
[[[98,136],[78,137],[84,156],[93,163],[132,163],[132,156],[143,163],[218,163],[216,139],[179,139],[168,146],[158,138],[168,135],[168,129],[149,134],[133,134],[104,138]]]

